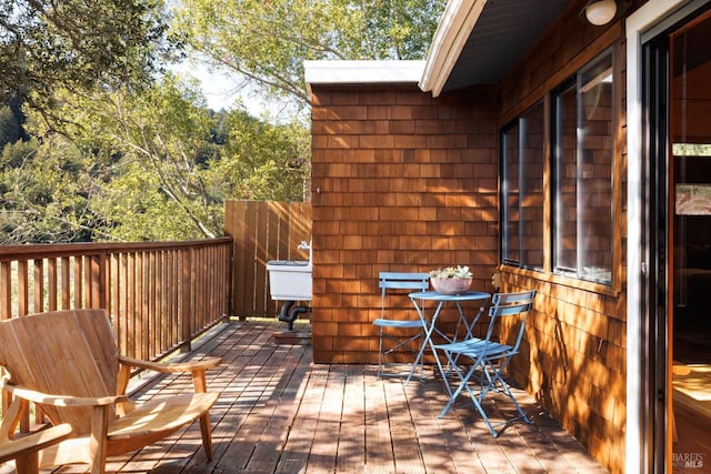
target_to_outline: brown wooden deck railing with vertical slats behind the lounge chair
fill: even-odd
[[[232,239],[0,246],[0,320],[103,307],[121,353],[157,360],[230,313]]]

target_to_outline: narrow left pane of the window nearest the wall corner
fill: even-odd
[[[503,132],[503,245],[504,262],[519,263],[519,124]]]

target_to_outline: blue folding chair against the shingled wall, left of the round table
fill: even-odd
[[[378,376],[401,376],[408,375],[400,373],[387,372],[385,357],[393,354],[397,351],[409,351],[415,355],[420,351],[420,344],[422,342],[424,323],[418,317],[417,320],[395,320],[385,317],[385,295],[392,290],[408,290],[407,293],[402,293],[405,297],[408,293],[413,290],[425,291],[430,286],[430,275],[428,273],[394,273],[394,272],[381,272],[379,275],[378,285],[381,291],[381,306],[380,317],[373,321],[373,325],[380,327],[380,342],[378,349]],[[412,314],[417,315],[414,309]],[[398,330],[398,333],[385,332],[385,329]],[[411,334],[412,330],[417,330],[413,335],[402,335],[402,330],[409,330],[408,334]],[[383,342],[390,340],[394,345],[385,347]],[[414,343],[417,342],[417,346]],[[421,365],[421,364],[420,364]]]

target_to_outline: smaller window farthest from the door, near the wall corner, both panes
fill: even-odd
[[[505,263],[543,270],[543,102],[501,134],[502,256]]]

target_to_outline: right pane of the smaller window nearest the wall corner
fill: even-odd
[[[543,102],[521,117],[521,189],[520,233],[521,263],[543,269],[543,172],[544,172]]]

